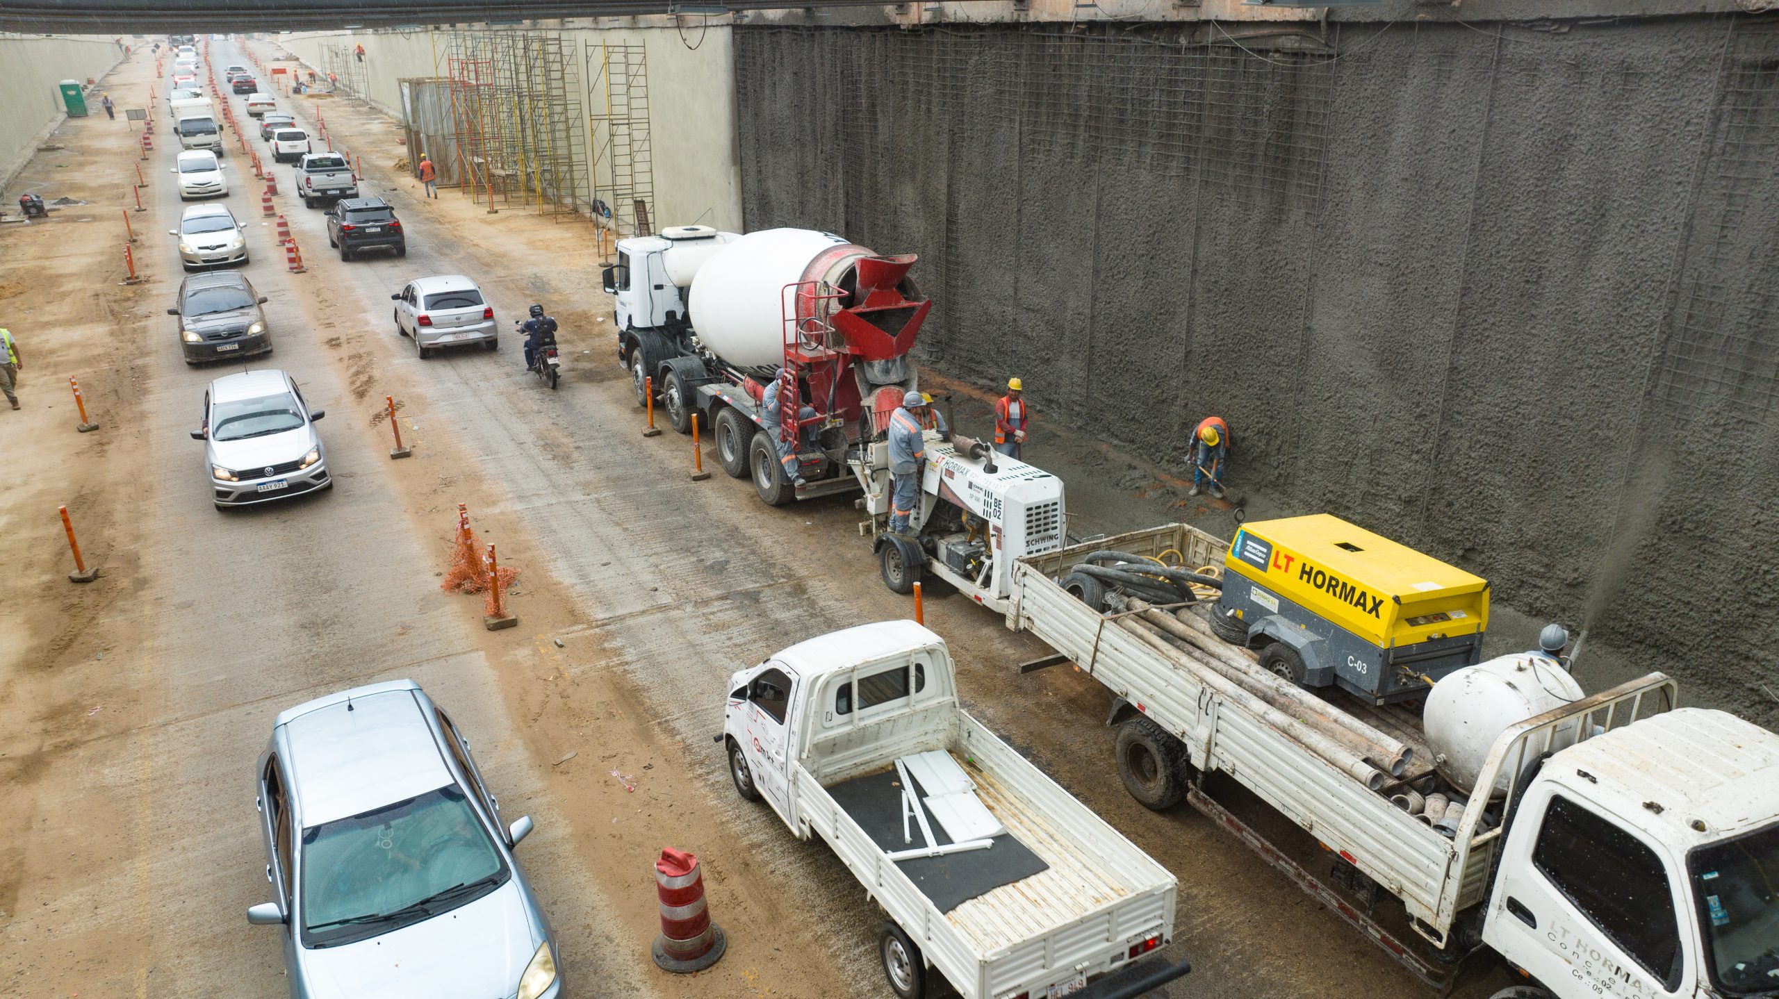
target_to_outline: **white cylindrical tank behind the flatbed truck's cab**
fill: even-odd
[[[1500,656],[1446,675],[1434,684],[1421,711],[1439,775],[1471,795],[1501,732],[1582,697],[1582,684],[1574,683],[1569,670],[1532,652]],[[1580,723],[1580,718],[1564,722],[1551,750],[1574,745]],[[1503,763],[1489,791],[1491,798],[1507,793],[1516,777],[1509,773],[1512,766],[1512,759]]]

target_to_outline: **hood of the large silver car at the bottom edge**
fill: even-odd
[[[393,933],[299,951],[313,999],[503,999],[537,951],[519,880]]]

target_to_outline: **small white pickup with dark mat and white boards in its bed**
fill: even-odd
[[[735,674],[722,729],[735,789],[827,841],[888,914],[900,999],[946,981],[964,999],[1110,999],[1190,971],[1144,958],[1172,937],[1174,876],[959,709],[932,631],[792,645]]]

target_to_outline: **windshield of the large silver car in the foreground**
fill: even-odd
[[[302,937],[320,946],[365,939],[505,880],[507,862],[463,789],[448,784],[302,830]]]

